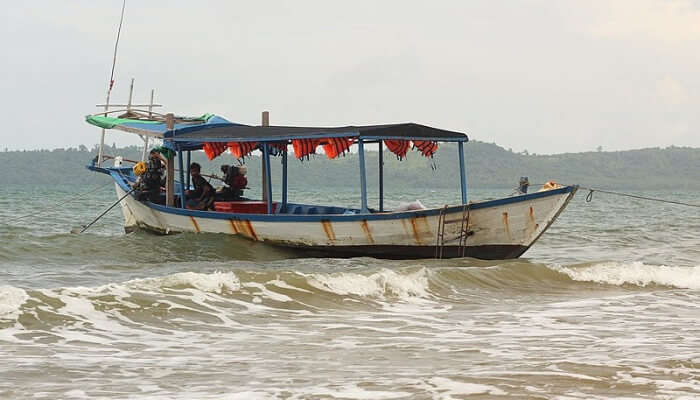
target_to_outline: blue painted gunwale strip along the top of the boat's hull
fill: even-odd
[[[123,171],[131,170],[131,168],[102,168],[95,166],[88,166],[88,169],[101,172],[104,174],[111,175],[114,181],[122,188],[125,192],[131,190],[125,181],[125,176]],[[519,196],[505,197],[496,200],[487,200],[478,203],[471,203],[470,208],[472,210],[478,210],[481,208],[497,207],[505,204],[520,203],[523,201],[530,201],[534,199],[539,199],[542,197],[556,196],[559,194],[570,193],[578,186],[564,186],[559,189],[547,190],[544,192],[535,192],[529,194],[523,194]],[[215,211],[197,211],[197,210],[187,210],[182,208],[166,207],[160,204],[154,204],[151,202],[144,202],[149,208],[154,210],[175,215],[184,215],[188,217],[196,218],[209,218],[209,219],[224,219],[224,220],[248,220],[248,221],[266,221],[266,222],[320,222],[320,221],[331,221],[331,222],[351,222],[351,221],[384,221],[384,220],[396,220],[396,219],[408,219],[411,217],[424,217],[433,216],[440,214],[442,207],[440,208],[430,208],[426,210],[414,210],[414,211],[400,211],[400,212],[388,212],[388,213],[375,213],[375,214],[312,214],[312,215],[300,215],[300,214],[238,214],[238,213],[222,213]],[[458,212],[463,209],[464,205],[456,205],[447,207],[446,212]]]

